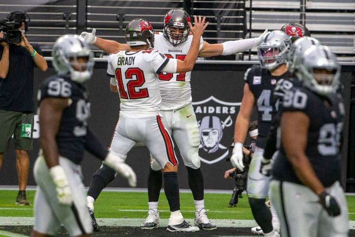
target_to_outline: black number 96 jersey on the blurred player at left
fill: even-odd
[[[67,76],[53,76],[44,80],[38,91],[39,103],[48,97],[69,99],[68,107],[63,110],[56,142],[61,156],[79,164],[85,150],[86,119],[90,117],[86,87]]]

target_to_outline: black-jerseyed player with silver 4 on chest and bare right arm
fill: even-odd
[[[279,234],[277,217],[272,218],[271,212],[265,205],[269,190],[270,177],[260,174],[260,162],[266,142],[266,136],[273,124],[279,103],[273,98],[273,90],[278,80],[290,76],[287,69],[287,54],[291,40],[282,31],[268,32],[258,46],[260,65],[249,68],[244,79],[244,95],[242,105],[235,123],[234,149],[231,163],[239,170],[244,170],[243,144],[248,131],[249,120],[254,104],[258,111],[258,137],[256,149],[251,159],[248,174],[248,196],[251,211],[265,236],[276,237]],[[274,228],[272,225],[272,220]],[[259,230],[256,230],[259,231]]]

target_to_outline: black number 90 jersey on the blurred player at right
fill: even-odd
[[[281,113],[284,111],[300,111],[309,117],[305,153],[320,182],[325,187],[331,186],[340,176],[339,147],[345,114],[341,95],[333,93],[322,97],[307,88],[294,87],[285,93]],[[301,184],[285,156],[283,146],[275,160],[273,176],[278,180]]]

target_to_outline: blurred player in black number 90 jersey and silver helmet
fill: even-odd
[[[340,66],[329,48],[319,45],[298,62],[295,75],[303,86],[284,95],[281,148],[270,184],[281,235],[346,237],[348,208],[338,181],[345,114],[336,93]]]

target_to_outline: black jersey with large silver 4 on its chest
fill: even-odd
[[[276,83],[280,79],[289,78],[289,76],[288,71],[281,76],[272,76],[267,69],[262,69],[260,65],[253,65],[245,73],[244,79],[254,95],[258,111],[257,147],[265,147],[266,136],[279,109],[279,101],[275,100],[273,96]]]

